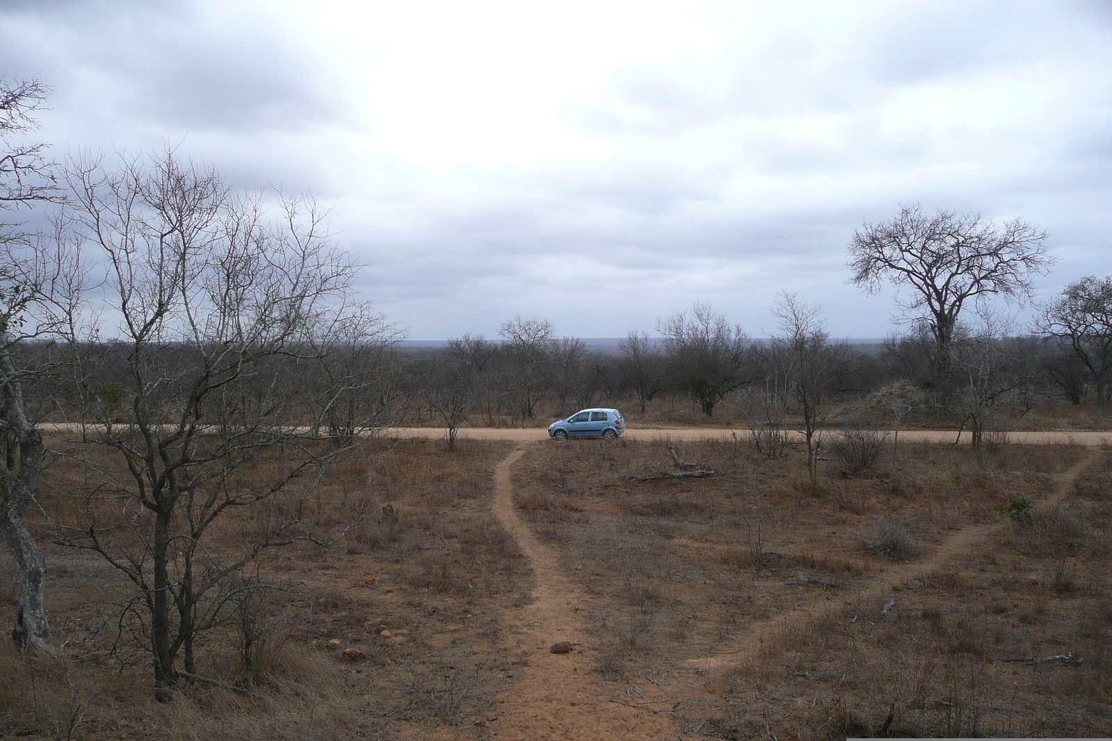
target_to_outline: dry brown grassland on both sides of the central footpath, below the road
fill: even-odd
[[[130,582],[48,547],[61,658],[0,642],[0,729],[528,738],[508,732],[520,719],[500,703],[544,671],[510,640],[534,588],[492,510],[510,452],[377,440],[351,453],[307,520],[335,529],[358,497],[363,520],[329,549],[265,551],[239,578],[266,587],[199,644],[209,681],[168,703],[152,699],[143,625],[123,609]],[[609,692],[603,707],[671,719],[663,735],[638,735],[646,723],[625,738],[1112,734],[1112,451],[997,439],[902,444],[897,460],[888,444],[857,474],[821,463],[814,490],[804,452],[757,454],[741,435],[527,447],[514,503],[577,592],[592,687]],[[41,538],[82,517],[86,475],[52,461]],[[234,550],[265,518],[228,518],[214,548]],[[14,573],[0,557],[8,624]]]

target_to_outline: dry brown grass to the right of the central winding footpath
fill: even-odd
[[[558,523],[554,545],[589,595],[596,670],[661,684],[692,737],[1112,731],[1112,457],[1022,528],[996,508],[1016,494],[1040,501],[1086,451],[911,444],[898,471],[882,457],[880,470],[844,479],[832,464],[817,494],[801,451],[770,460],[708,442],[678,452],[718,475],[629,481],[671,469],[663,445],[552,444],[523,459],[515,487],[527,501],[565,485],[577,520]],[[539,524],[546,511],[526,514]],[[882,520],[907,525],[911,567],[956,528],[1002,524],[971,552],[900,580],[904,564],[862,548]],[[857,595],[888,581],[895,591]],[[752,658],[713,668],[785,614]],[[1001,661],[1071,651],[1080,667]]]

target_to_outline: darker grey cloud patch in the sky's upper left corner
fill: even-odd
[[[23,30],[0,61],[24,60],[56,107],[129,128],[297,131],[344,111],[330,71],[266,18],[229,23],[183,1],[18,3],[0,18]]]

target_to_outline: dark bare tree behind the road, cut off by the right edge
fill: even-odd
[[[1089,371],[1096,403],[1106,403],[1112,397],[1108,381],[1112,375],[1112,276],[1089,276],[1066,286],[1043,307],[1037,328],[1069,346]],[[1059,368],[1065,371],[1069,366]]]

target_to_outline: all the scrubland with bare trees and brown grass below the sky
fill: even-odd
[[[610,702],[695,738],[1109,734],[1112,460],[1007,431],[1112,428],[1112,279],[1001,321],[1053,262],[1039,228],[864,224],[853,280],[905,291],[882,346],[785,292],[766,339],[696,303],[614,352],[522,317],[403,351],[311,199],[171,150],[58,166],[7,139],[46,89],[0,92],[6,203],[58,209],[0,224],[6,734],[499,733],[499,698],[545,681],[508,640],[534,545],[492,508],[510,449],[456,433],[604,404],[736,430],[513,472]]]

